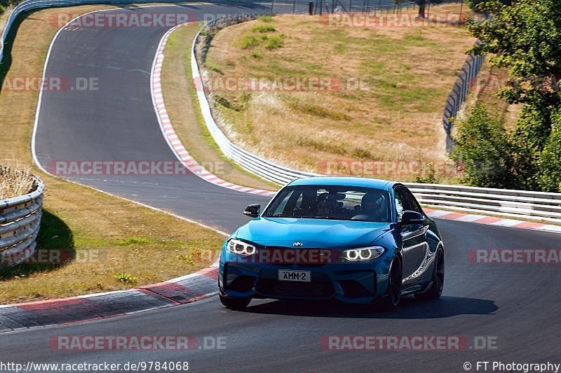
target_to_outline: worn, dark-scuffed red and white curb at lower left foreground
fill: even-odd
[[[0,306],[0,332],[100,320],[195,302],[217,293],[217,263],[130,290]]]

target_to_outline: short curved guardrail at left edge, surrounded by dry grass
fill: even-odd
[[[3,258],[17,258],[10,264],[22,262],[35,251],[45,184],[34,179],[33,192],[0,201],[0,253]]]

